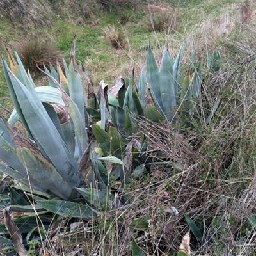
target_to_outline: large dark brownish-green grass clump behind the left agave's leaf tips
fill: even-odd
[[[45,42],[42,38],[28,36],[15,45],[20,59],[29,72],[39,72],[39,68],[44,65],[49,68],[50,63],[56,68],[57,63],[63,68],[61,52],[50,42]]]

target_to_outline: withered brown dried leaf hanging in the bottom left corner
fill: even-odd
[[[20,256],[26,256],[27,250],[22,244],[22,236],[17,225],[12,221],[12,218],[9,214],[9,207],[4,209],[4,223],[5,227],[8,230],[10,236],[12,237],[12,243],[15,246],[17,253]]]

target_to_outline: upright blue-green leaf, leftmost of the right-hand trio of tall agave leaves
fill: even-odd
[[[150,94],[152,99],[154,100],[154,104],[163,115],[163,101],[160,92],[160,73],[157,67],[156,59],[154,58],[153,52],[151,50],[150,45],[148,45],[148,54],[147,54],[147,61],[146,61],[146,68],[147,68],[147,79],[148,79],[148,86],[150,89]]]

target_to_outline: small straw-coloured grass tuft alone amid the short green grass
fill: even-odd
[[[115,49],[125,49],[126,41],[124,31],[116,29],[115,26],[104,28],[104,35],[109,40],[111,46]]]

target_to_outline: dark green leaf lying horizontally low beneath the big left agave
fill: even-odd
[[[95,213],[88,205],[61,200],[36,200],[47,211],[72,218],[91,218]]]

